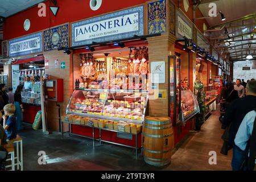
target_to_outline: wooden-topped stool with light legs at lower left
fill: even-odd
[[[17,166],[17,170],[23,171],[23,146],[22,146],[22,138],[17,135],[15,139],[11,140],[14,144],[16,144],[16,156],[14,159],[16,159],[15,166]],[[20,147],[20,153],[19,153],[19,147]]]

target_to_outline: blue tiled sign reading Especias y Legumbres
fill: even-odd
[[[22,56],[42,52],[42,32],[9,41],[9,56]]]

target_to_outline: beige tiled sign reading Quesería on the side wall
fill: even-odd
[[[176,11],[176,28],[177,38],[183,39],[185,36],[188,39],[193,39],[193,26],[179,11]]]

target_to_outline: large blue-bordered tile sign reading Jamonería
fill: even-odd
[[[144,35],[143,6],[72,24],[72,46],[108,42]]]

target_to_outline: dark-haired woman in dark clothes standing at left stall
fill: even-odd
[[[16,115],[16,127],[17,131],[23,130],[23,105],[22,105],[22,97],[21,97],[21,92],[23,91],[23,85],[18,85],[17,89],[14,93],[14,105],[16,107],[15,110],[15,115]]]

